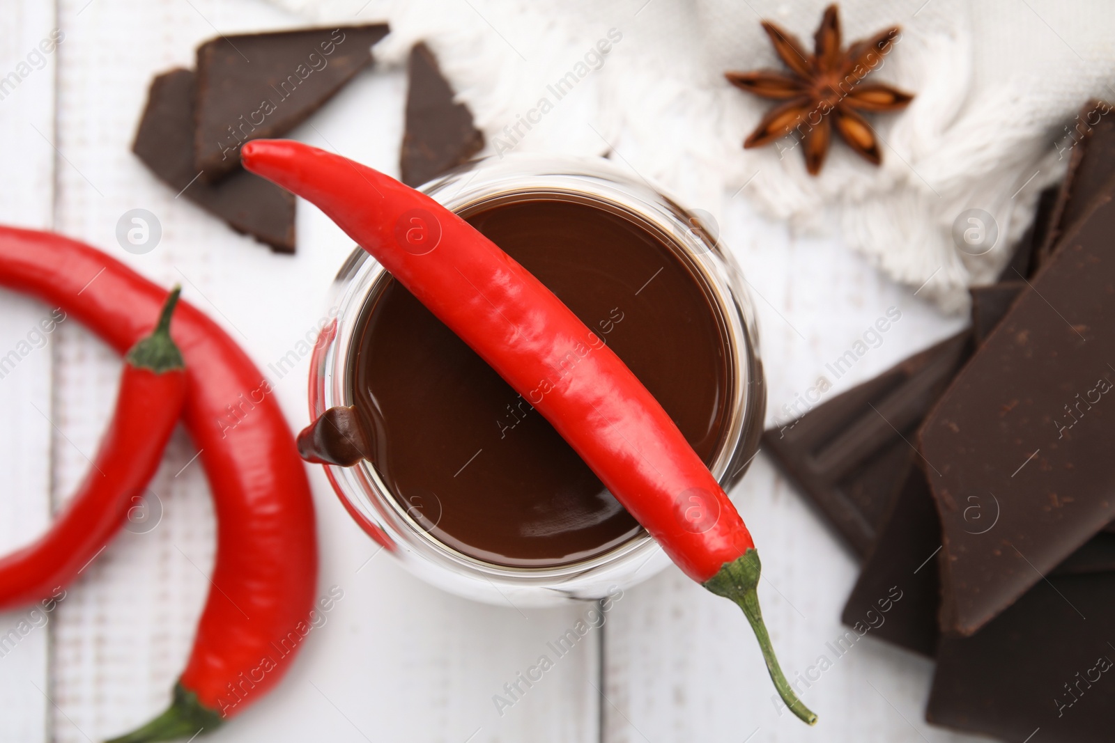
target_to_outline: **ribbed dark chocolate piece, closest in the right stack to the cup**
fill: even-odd
[[[968,358],[970,338],[953,335],[763,434],[763,448],[861,556],[905,481],[911,434]]]

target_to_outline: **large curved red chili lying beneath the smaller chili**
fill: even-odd
[[[105,253],[59,235],[0,227],[0,284],[38,296],[122,353],[151,331],[165,296]],[[270,384],[212,320],[182,302],[183,419],[213,491],[216,560],[190,662],[171,708],[138,743],[217,727],[290,667],[313,609],[318,549],[306,466]]]

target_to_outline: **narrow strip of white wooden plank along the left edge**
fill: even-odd
[[[57,52],[52,3],[0,0],[0,222],[49,228],[54,205]],[[43,41],[47,40],[47,41]],[[42,49],[51,48],[51,53]],[[40,321],[46,325],[40,326]],[[51,309],[0,291],[0,553],[33,539],[50,519]],[[48,641],[55,613],[0,613],[0,741],[49,740]]]

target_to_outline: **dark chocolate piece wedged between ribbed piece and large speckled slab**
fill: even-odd
[[[940,634],[940,577],[934,559],[940,548],[941,524],[929,483],[921,468],[911,466],[841,620],[850,627],[862,622],[872,626],[871,637],[933,657]],[[893,589],[900,592],[898,600],[893,600]],[[882,612],[888,605],[890,609]],[[876,623],[881,624],[873,626]]]

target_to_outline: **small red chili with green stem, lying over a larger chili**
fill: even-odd
[[[116,411],[66,510],[39,539],[0,559],[0,609],[69,585],[143,497],[186,397],[185,366],[169,332],[178,292],[171,292],[155,331],[125,356]]]

